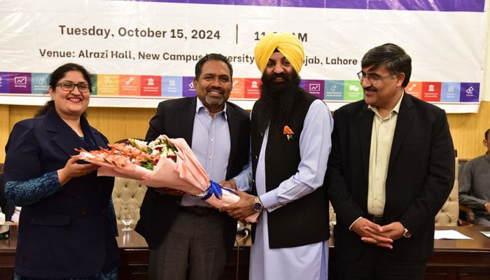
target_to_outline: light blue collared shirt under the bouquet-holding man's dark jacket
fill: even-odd
[[[191,148],[211,180],[219,183],[226,179],[230,158],[230,130],[226,104],[223,111],[216,113],[212,118],[209,110],[197,98]],[[181,205],[209,206],[204,200],[191,195],[183,195]]]

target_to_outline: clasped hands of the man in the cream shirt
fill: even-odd
[[[387,227],[387,225],[384,227]],[[391,235],[383,232],[382,228],[384,227],[381,227],[381,225],[378,225],[377,223],[372,223],[367,220],[367,218],[360,218],[352,225],[351,230],[356,232],[360,236],[360,239],[366,243],[385,248],[393,248],[393,239],[391,238]]]

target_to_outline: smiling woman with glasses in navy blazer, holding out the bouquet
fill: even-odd
[[[109,143],[85,118],[91,91],[83,66],[59,66],[50,75],[51,100],[10,133],[5,191],[22,207],[14,279],[118,278],[114,179],[72,158],[75,148]]]

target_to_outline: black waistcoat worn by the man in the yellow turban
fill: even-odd
[[[294,132],[293,137],[288,140],[282,131],[269,131],[265,149],[267,191],[277,188],[282,181],[293,176],[301,161],[300,134],[309,106],[316,97],[302,89],[298,94],[300,98],[295,102],[290,120],[286,122]],[[252,110],[251,146],[254,179],[263,139],[258,131],[256,113]],[[322,121],[324,120],[318,120],[318,122]],[[253,192],[256,191],[254,184]],[[313,193],[268,213],[269,247],[295,247],[326,240],[330,237],[328,222],[328,197],[325,187],[322,186]]]

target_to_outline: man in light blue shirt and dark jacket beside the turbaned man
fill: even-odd
[[[195,65],[197,97],[158,104],[146,141],[161,134],[186,139],[212,181],[248,190],[250,118],[228,102],[233,69],[220,54]],[[136,230],[150,247],[149,279],[218,280],[237,232],[237,221],[204,200],[148,186]]]

